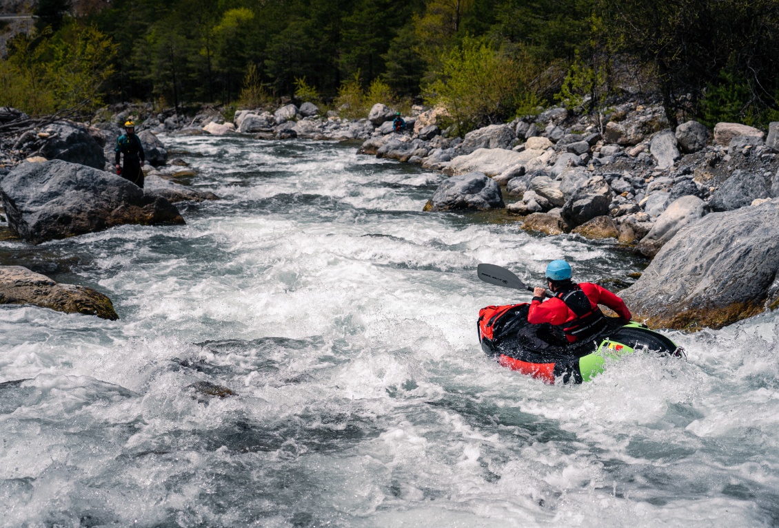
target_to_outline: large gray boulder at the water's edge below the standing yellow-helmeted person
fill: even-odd
[[[183,224],[178,209],[112,173],[52,160],[23,163],[0,181],[9,227],[23,240],[93,233],[122,224]]]

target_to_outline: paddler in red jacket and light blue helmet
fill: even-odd
[[[544,288],[535,288],[527,322],[530,324],[550,323],[562,328],[568,341],[585,341],[603,330],[608,318],[597,306],[602,304],[613,309],[620,318],[630,320],[630,310],[618,296],[591,282],[576,284],[571,281],[573,273],[566,261],[552,261],[546,267],[549,289],[555,294],[544,301]]]

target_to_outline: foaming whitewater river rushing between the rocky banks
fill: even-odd
[[[221,201],[2,264],[121,319],[0,308],[0,526],[776,526],[777,316],[547,386],[481,352],[478,281],[629,280],[609,244],[423,213],[437,173],[354,145],[163,139]],[[198,395],[192,383],[234,391]]]

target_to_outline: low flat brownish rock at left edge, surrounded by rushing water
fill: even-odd
[[[31,304],[117,320],[111,299],[92,288],[58,284],[23,266],[0,266],[0,304]]]

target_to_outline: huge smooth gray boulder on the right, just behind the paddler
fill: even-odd
[[[711,213],[681,229],[620,293],[651,327],[720,328],[779,306],[779,203]]]

